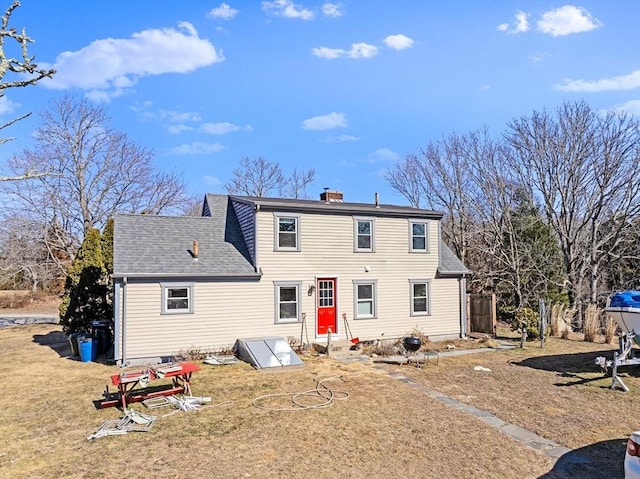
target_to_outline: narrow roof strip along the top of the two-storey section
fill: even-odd
[[[207,198],[213,195],[207,195]],[[423,210],[411,206],[395,206],[374,203],[349,203],[342,201],[325,202],[322,200],[300,200],[290,198],[267,198],[257,196],[231,196],[234,201],[249,203],[268,210],[283,210],[292,212],[317,212],[324,214],[360,214],[391,216],[405,218],[440,219],[442,213],[433,210]]]

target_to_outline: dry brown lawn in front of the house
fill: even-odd
[[[531,343],[524,350],[443,358],[422,369],[385,368],[564,446],[615,454],[609,462],[594,455],[604,462],[589,476],[612,479],[621,473],[626,435],[639,428],[640,378],[625,377],[628,394],[608,389],[610,378],[599,379],[591,365],[599,350],[611,356],[613,348],[558,339],[545,350]],[[0,476],[564,477],[552,459],[387,371],[326,356],[276,372],[245,363],[202,364],[193,393],[211,397],[212,407],[162,417],[170,410],[136,404],[160,416],[149,432],[87,440],[104,421],[122,415],[93,404],[120,369],[69,355],[59,326],[0,329]],[[491,372],[474,371],[476,365]],[[344,382],[327,385],[349,398],[330,408],[289,412],[252,405],[258,396],[302,392],[315,386],[314,378],[335,376]]]

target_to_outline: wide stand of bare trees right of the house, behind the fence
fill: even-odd
[[[639,121],[565,103],[514,120],[503,139],[452,134],[387,179],[412,205],[445,212],[443,236],[476,272],[472,287],[507,285],[516,298],[562,287],[571,305],[598,302],[638,254]]]

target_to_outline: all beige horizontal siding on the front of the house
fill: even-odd
[[[286,212],[282,212],[285,213]],[[260,280],[187,281],[193,283],[192,314],[161,314],[161,283],[128,279],[126,297],[125,361],[171,356],[187,351],[215,352],[230,348],[238,338],[264,336],[299,340],[302,324],[275,323],[275,282],[301,282],[302,313],[307,341],[316,337],[316,295],[308,294],[317,278],[337,278],[337,340],[347,339],[342,313],[354,337],[402,337],[419,330],[430,337],[460,334],[460,291],[457,279],[436,278],[437,221],[429,222],[429,253],[409,252],[406,218],[375,218],[375,252],[354,252],[353,216],[300,215],[300,251],[275,251],[274,213],[259,211],[256,218]],[[367,272],[366,269],[369,271]],[[376,281],[374,319],[354,318],[354,280]],[[428,316],[411,316],[410,280],[430,280]],[[117,358],[122,359],[122,358]]]

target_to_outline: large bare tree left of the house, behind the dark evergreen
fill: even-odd
[[[36,146],[8,167],[50,174],[3,185],[16,213],[54,231],[50,246],[64,248],[69,258],[86,232],[102,228],[115,212],[171,213],[188,201],[182,178],[156,170],[151,152],[112,129],[103,107],[64,96],[40,118]]]

